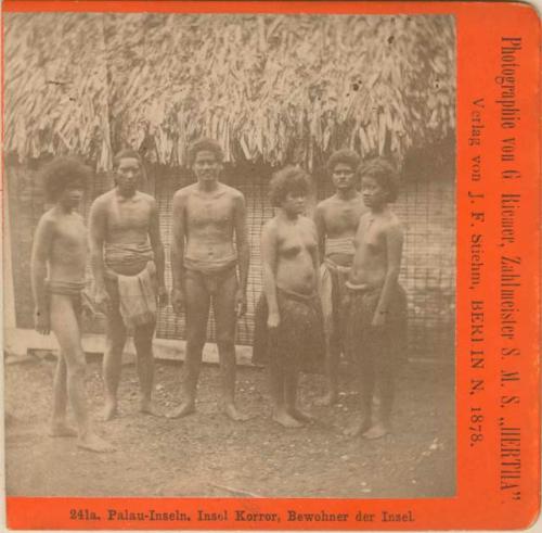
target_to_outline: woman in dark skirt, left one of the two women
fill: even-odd
[[[276,214],[261,233],[263,294],[256,309],[253,360],[269,361],[273,420],[285,428],[311,420],[297,406],[299,372],[321,366],[325,348],[317,228],[302,215],[307,192],[300,168],[276,173],[270,183]]]

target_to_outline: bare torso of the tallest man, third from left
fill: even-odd
[[[177,194],[184,206],[184,258],[194,264],[234,259],[235,206],[241,192],[223,183],[206,192],[195,183]]]

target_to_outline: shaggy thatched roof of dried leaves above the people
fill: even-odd
[[[125,145],[170,165],[190,140],[227,158],[311,166],[349,145],[402,158],[455,127],[453,18],[440,15],[8,13],[5,150]]]

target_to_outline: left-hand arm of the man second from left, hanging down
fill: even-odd
[[[103,243],[105,241],[107,213],[105,211],[105,205],[101,199],[96,199],[90,207],[89,248],[90,266],[92,267],[92,276],[94,277],[94,299],[99,306],[106,303],[108,300],[105,291],[105,268],[103,261]]]

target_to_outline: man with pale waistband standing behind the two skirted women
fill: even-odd
[[[314,211],[321,266],[321,299],[326,337],[325,375],[327,393],[318,403],[332,405],[338,395],[338,363],[344,352],[345,282],[352,265],[353,238],[360,217],[366,212],[356,189],[360,157],[351,150],[339,150],[327,162],[335,194],[320,202]]]

